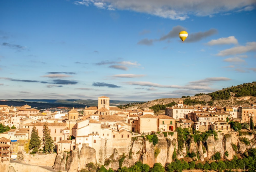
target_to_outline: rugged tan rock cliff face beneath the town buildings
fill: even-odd
[[[113,148],[112,154],[109,157],[106,157],[106,154],[104,154],[102,158],[97,158],[99,155],[96,155],[95,149],[89,147],[88,144],[83,144],[81,150],[76,146],[75,150],[71,153],[60,153],[57,155],[54,169],[56,171],[77,172],[85,168],[85,165],[90,162],[99,163],[105,165],[106,168],[112,169],[118,169],[121,166],[130,167],[137,161],[148,164],[150,167],[156,162],[165,165],[172,161],[173,152],[178,147],[177,133],[174,132],[173,136],[167,135],[167,137],[160,133],[157,134],[157,137],[158,143],[155,146],[146,137],[133,137],[127,145],[128,153],[126,150],[122,151],[122,149]],[[237,133],[227,135],[218,133],[217,140],[214,139],[214,136],[209,136],[204,142],[199,141],[195,143],[194,138],[191,137],[185,143],[184,150],[179,153],[178,150],[175,151],[178,159],[185,157],[187,153],[194,152],[197,155],[193,158],[194,160],[204,161],[205,159],[211,159],[216,152],[220,152],[222,158],[230,160],[235,155],[232,144],[237,146],[239,153],[245,152],[251,146],[255,147],[255,143],[249,147],[240,142]],[[227,157],[225,157],[226,151],[228,152]]]

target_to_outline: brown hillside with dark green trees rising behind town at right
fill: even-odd
[[[189,104],[192,102],[192,104],[189,105],[193,106],[250,106],[252,103],[256,103],[256,82],[232,86],[230,88],[225,88],[209,94],[200,93],[195,95],[196,96],[189,98],[156,99],[148,101],[144,104],[131,106],[128,109],[147,109],[154,105],[166,105],[173,101],[178,103],[180,100],[184,101],[184,104]]]

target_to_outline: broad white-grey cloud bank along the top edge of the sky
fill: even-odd
[[[132,10],[173,20],[185,20],[189,15],[209,16],[237,10],[254,9],[254,0],[80,0],[76,5],[97,4],[97,7]],[[108,8],[109,9],[109,8]]]

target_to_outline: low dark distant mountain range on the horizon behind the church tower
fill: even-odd
[[[139,101],[121,101],[110,100],[110,106],[120,106],[129,103],[135,103]],[[81,99],[1,99],[0,105],[8,106],[23,106],[28,104],[31,107],[37,107],[38,109],[52,108],[52,107],[75,107],[85,108],[85,106],[98,106],[98,100],[81,100]]]

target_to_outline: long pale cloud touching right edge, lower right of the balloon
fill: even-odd
[[[217,54],[217,56],[242,54],[249,51],[256,51],[256,42],[247,42],[246,46],[237,46],[230,49],[222,50]]]

